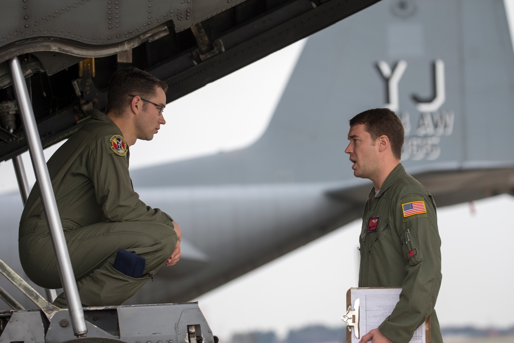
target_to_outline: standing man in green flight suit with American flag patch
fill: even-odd
[[[442,343],[434,311],[441,284],[440,238],[432,195],[400,164],[403,125],[389,109],[350,120],[354,175],[373,181],[362,214],[359,287],[401,287],[400,300],[360,343],[407,343],[431,317],[431,341]]]

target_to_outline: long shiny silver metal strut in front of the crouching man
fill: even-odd
[[[57,264],[59,267],[59,275],[63,284],[66,302],[68,303],[68,311],[71,319],[73,331],[76,336],[84,336],[87,333],[86,322],[84,319],[84,311],[80,302],[79,291],[75,276],[71,267],[68,247],[64,239],[63,228],[59,211],[57,209],[56,197],[53,194],[53,188],[46,166],[45,156],[43,155],[43,146],[38,132],[38,125],[35,122],[32,105],[28,96],[27,84],[23,76],[22,66],[17,57],[9,60],[9,68],[11,70],[12,86],[18,101],[27,143],[29,146],[30,157],[34,167],[34,173],[38,180],[41,201],[46,213],[50,237],[53,243],[53,249],[56,252]]]

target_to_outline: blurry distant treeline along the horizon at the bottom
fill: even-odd
[[[447,327],[441,329],[443,336],[489,337],[514,334],[514,326],[508,329],[476,329],[473,327]],[[254,331],[236,333],[221,343],[328,343],[346,341],[346,328],[328,328],[322,325],[311,325],[298,330],[289,330],[284,339],[279,339],[273,331]]]

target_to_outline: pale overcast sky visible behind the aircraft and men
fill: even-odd
[[[514,0],[506,2],[512,12]],[[155,139],[131,147],[131,169],[250,145],[265,131],[303,45],[293,44],[169,104],[168,122]],[[265,87],[248,82],[256,75],[274,82]],[[150,154],[156,147],[166,153]],[[0,189],[15,187],[11,163],[2,163]],[[444,263],[436,309],[442,326],[514,324],[509,266],[514,233],[506,219],[512,209],[514,197],[508,195],[438,209]],[[346,290],[357,285],[359,227],[348,224],[196,299],[214,334],[227,340],[250,330],[284,334],[309,323],[342,326]]]

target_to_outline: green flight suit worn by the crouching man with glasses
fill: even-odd
[[[170,258],[177,243],[171,217],[139,200],[128,174],[128,155],[117,125],[96,111],[48,161],[71,265],[85,306],[123,303]],[[113,267],[118,249],[144,258],[141,277]],[[45,288],[62,287],[37,185],[22,213],[19,250],[22,267],[34,283]],[[65,307],[64,295],[54,304]]]

